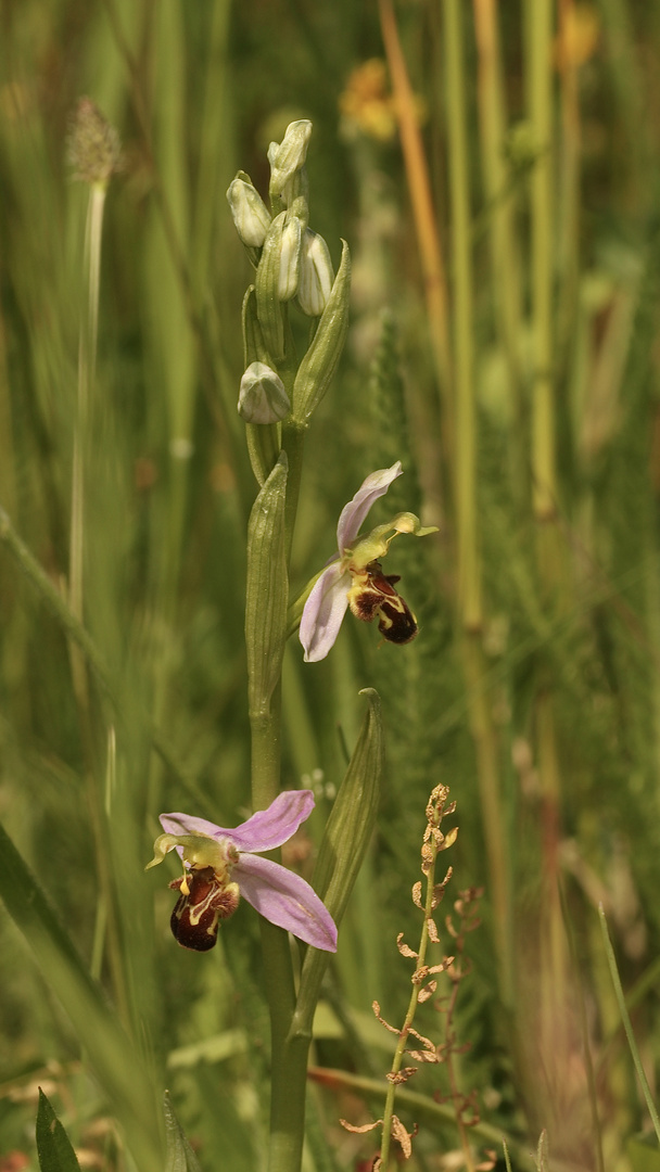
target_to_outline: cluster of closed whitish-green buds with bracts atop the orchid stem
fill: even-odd
[[[312,123],[301,118],[288,125],[281,143],[271,143],[270,207],[245,171],[227,190],[236,230],[256,268],[244,304],[245,373],[238,397],[238,414],[250,424],[288,421],[306,427],[329,386],[346,336],[351,259],[343,245],[335,275],[326,241],[309,227],[305,164],[311,134]],[[318,319],[301,361],[293,352],[291,304]],[[263,483],[274,443],[252,441],[250,448]]]

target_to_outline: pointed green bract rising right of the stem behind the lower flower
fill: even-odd
[[[365,688],[368,709],[346,776],[336,795],[312,875],[312,886],[339,927],[376,822],[385,770],[385,735],[377,691]],[[311,1027],[327,953],[309,948],[300,973],[300,992],[291,1033]]]

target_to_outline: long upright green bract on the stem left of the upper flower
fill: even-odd
[[[245,642],[251,718],[270,713],[286,641],[288,579],[284,511],[287,470],[288,461],[283,451],[252,506],[247,525]]]

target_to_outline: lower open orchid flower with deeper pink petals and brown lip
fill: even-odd
[[[271,924],[314,948],[336,952],[334,920],[309,884],[256,853],[286,843],[313,809],[311,790],[285,790],[234,830],[186,813],[162,813],[165,833],[154,843],[145,870],[172,849],[183,861],[183,875],[170,884],[179,892],[170,920],[175,940],[207,952],[218,938],[219,920],[233,915],[244,895]]]

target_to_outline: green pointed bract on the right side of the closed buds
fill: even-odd
[[[293,384],[293,417],[300,423],[306,423],[317,410],[336,370],[348,329],[349,298],[351,252],[342,240],[341,264],[332,293]]]

